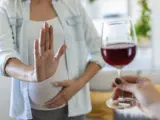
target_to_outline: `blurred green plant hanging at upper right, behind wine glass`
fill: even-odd
[[[150,15],[151,9],[148,6],[148,0],[138,0],[139,5],[141,6],[141,16],[137,21],[135,28],[138,40],[141,38],[149,39],[151,37],[151,23],[150,23]]]

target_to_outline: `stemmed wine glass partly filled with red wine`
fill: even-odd
[[[101,54],[106,63],[117,69],[118,77],[121,70],[130,64],[136,56],[137,37],[131,20],[104,21],[101,35]],[[112,97],[106,102],[113,109],[131,108],[136,105],[133,97],[121,97],[114,100]]]

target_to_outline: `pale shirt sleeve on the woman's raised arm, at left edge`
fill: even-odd
[[[0,74],[6,76],[5,65],[10,58],[19,58],[19,54],[15,49],[13,34],[7,13],[0,8]]]

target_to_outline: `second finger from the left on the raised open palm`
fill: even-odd
[[[40,55],[43,55],[45,51],[45,29],[44,28],[41,29],[39,41],[40,41],[40,45],[39,45]]]

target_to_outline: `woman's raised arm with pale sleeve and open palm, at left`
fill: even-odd
[[[3,59],[0,66],[1,73],[26,82],[42,82],[54,75],[59,60],[66,50],[66,45],[62,45],[54,55],[52,26],[45,23],[40,31],[39,40],[35,40],[34,66],[32,67],[22,63],[14,49],[12,32],[5,12],[0,13],[0,23],[2,23],[0,57]]]

